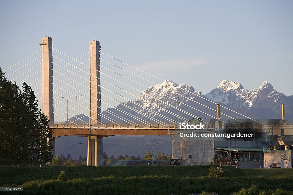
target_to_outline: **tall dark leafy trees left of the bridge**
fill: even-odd
[[[21,88],[0,68],[0,164],[47,164],[52,159],[50,120],[34,91]],[[49,140],[49,141],[48,141]]]

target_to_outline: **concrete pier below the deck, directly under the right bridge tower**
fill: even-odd
[[[98,136],[92,136],[92,139],[88,137],[87,165],[91,165],[91,148],[90,148],[91,146],[92,146],[92,165],[93,166],[103,165],[103,139],[99,138]]]

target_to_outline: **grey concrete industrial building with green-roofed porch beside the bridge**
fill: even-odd
[[[236,132],[254,136],[212,137],[215,133]],[[190,137],[195,133],[197,137]],[[205,124],[205,130],[169,130],[169,134],[173,158],[181,158],[183,165],[218,163],[213,159],[217,154],[219,161],[229,156],[239,168],[293,167],[293,123],[286,120],[210,120]],[[287,155],[287,163],[282,160],[282,155]]]

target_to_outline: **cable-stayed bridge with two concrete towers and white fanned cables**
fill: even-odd
[[[206,99],[199,92],[192,93],[180,86],[174,85],[185,93],[215,104],[218,109],[199,103],[195,101],[195,98],[182,96],[178,92],[173,92],[171,96],[160,91],[157,92],[157,96],[145,93],[144,89],[150,84],[156,85],[157,81],[165,80],[102,52],[98,41],[92,40],[89,43],[89,52],[78,58],[73,58],[66,52],[54,48],[51,37],[43,37],[40,45],[41,49],[5,70],[6,77],[20,85],[26,82],[34,90],[39,108],[50,119],[50,128],[53,129],[53,146],[55,137],[67,135],[88,137],[88,156],[90,154],[94,156],[91,162],[88,158],[88,165],[91,163],[93,165],[103,164],[103,137],[169,135],[170,130],[179,128],[179,121],[187,121],[191,118],[204,122],[207,129],[219,128],[219,126],[203,121],[195,113],[226,123],[221,120],[221,114],[226,118],[243,123],[225,113],[225,111],[229,111],[229,113],[238,114],[241,118],[248,118],[261,124],[257,120],[224,106],[221,106],[220,112],[219,104]],[[137,93],[144,94],[149,99],[143,99]],[[159,99],[158,96],[173,99],[178,104],[170,104]],[[213,111],[214,115],[179,101],[179,97],[206,107]],[[133,98],[141,103],[133,101]],[[152,100],[159,101],[161,106],[156,105]],[[133,108],[126,103],[122,104],[125,101],[140,109]],[[159,111],[146,105],[158,108]],[[193,108],[194,113],[181,109],[180,105]],[[122,107],[127,108],[128,112]],[[177,109],[178,114],[166,109],[167,107]],[[142,110],[149,114],[145,114]],[[106,114],[102,115],[102,111]],[[160,111],[168,113],[168,115],[162,114]],[[85,116],[88,119],[85,119]],[[174,118],[178,118],[178,120]],[[53,149],[53,154],[55,155],[55,149]]]

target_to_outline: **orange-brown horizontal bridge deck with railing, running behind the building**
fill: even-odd
[[[229,125],[230,128],[241,128],[241,125]],[[206,126],[205,131],[216,130],[217,128]],[[73,136],[89,136],[90,135],[90,125],[89,124],[54,124],[50,125],[53,129],[52,137],[61,137],[67,135]],[[263,125],[246,125],[244,129],[256,129],[256,130],[266,130],[272,128],[274,130],[274,135],[293,135],[293,124],[263,124]],[[92,135],[99,135],[100,137],[107,137],[112,135],[170,135],[177,134],[179,132],[185,132],[186,130],[178,130],[178,125],[174,124],[97,124],[92,126]],[[276,131],[275,130],[279,130]]]

